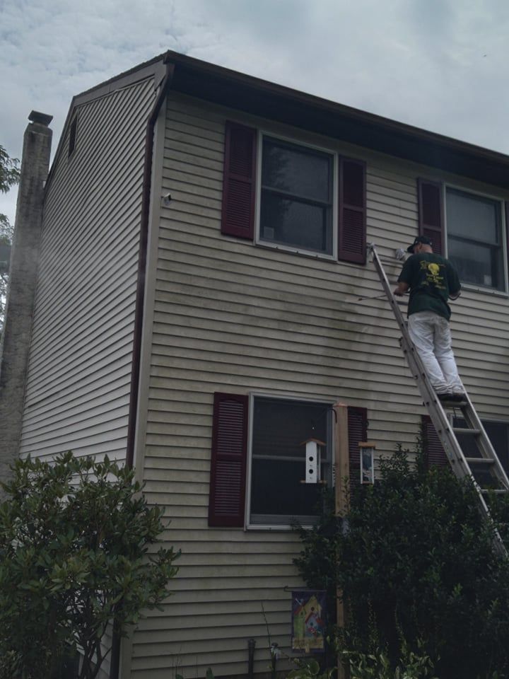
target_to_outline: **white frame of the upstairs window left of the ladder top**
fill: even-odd
[[[319,153],[327,153],[332,156],[332,254],[317,253],[315,250],[305,250],[305,248],[296,248],[292,245],[282,245],[281,243],[270,243],[268,240],[260,238],[260,214],[262,208],[262,161],[263,161],[263,139],[264,137],[271,137],[271,139],[279,139],[286,141],[288,144],[295,146],[302,146],[305,149],[312,149]],[[254,243],[262,248],[271,248],[271,250],[282,250],[287,253],[296,253],[297,255],[304,255],[305,257],[313,257],[320,260],[329,260],[337,262],[337,248],[338,248],[338,214],[339,214],[339,199],[338,199],[338,178],[339,178],[339,154],[337,151],[332,151],[324,146],[317,144],[310,144],[307,141],[300,141],[300,139],[293,139],[292,137],[284,137],[282,134],[274,134],[267,129],[259,129],[257,137],[257,168],[256,168],[256,201],[254,206]]]

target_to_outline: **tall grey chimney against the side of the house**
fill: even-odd
[[[23,137],[4,332],[0,344],[0,481],[18,455],[28,368],[51,115],[32,111]],[[0,493],[1,495],[1,493]]]

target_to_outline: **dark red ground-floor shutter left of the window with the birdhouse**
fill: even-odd
[[[209,526],[244,526],[247,399],[214,394]]]

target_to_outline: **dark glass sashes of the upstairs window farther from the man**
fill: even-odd
[[[259,240],[333,253],[334,156],[263,137]]]

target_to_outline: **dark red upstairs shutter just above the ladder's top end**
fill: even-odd
[[[339,260],[365,264],[365,202],[365,163],[339,158]]]

